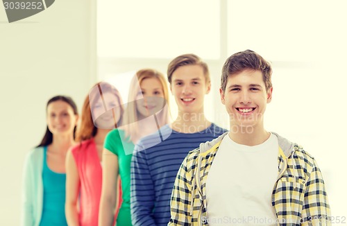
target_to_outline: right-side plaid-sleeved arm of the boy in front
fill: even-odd
[[[330,205],[325,191],[325,184],[316,160],[306,182],[306,191],[301,215],[301,225],[331,225]]]

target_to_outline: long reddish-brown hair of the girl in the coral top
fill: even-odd
[[[96,126],[94,125],[91,107],[99,98],[103,98],[103,94],[107,92],[115,94],[119,103],[119,108],[121,110],[121,116],[123,115],[123,101],[121,100],[121,96],[118,90],[107,82],[96,83],[96,85],[94,85],[92,89],[90,89],[90,92],[85,97],[85,102],[83,103],[81,121],[76,132],[77,142],[85,141],[87,139],[95,137],[98,128],[96,128]],[[115,122],[115,128],[117,128],[121,124],[121,116],[119,117],[119,121]]]

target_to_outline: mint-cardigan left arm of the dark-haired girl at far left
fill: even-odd
[[[26,156],[23,168],[22,185],[22,226],[31,226],[34,224],[33,216],[33,163],[30,155]]]

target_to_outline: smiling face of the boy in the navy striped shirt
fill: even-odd
[[[170,89],[180,112],[202,113],[203,100],[210,88],[199,65],[178,67],[172,74]]]

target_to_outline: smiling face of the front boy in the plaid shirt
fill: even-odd
[[[266,92],[261,71],[245,70],[230,75],[225,92],[222,89],[219,89],[219,92],[221,103],[226,105],[232,131],[235,131],[235,128],[232,128],[235,125],[264,127],[263,115],[266,103],[271,102],[272,87]]]

